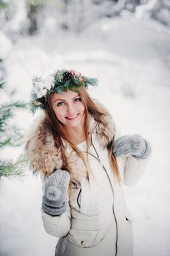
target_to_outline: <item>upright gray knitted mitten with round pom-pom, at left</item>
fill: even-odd
[[[45,181],[45,193],[42,197],[42,209],[46,214],[58,216],[69,209],[70,175],[66,170],[55,170]]]

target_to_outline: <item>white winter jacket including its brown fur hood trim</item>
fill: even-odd
[[[40,170],[42,191],[45,173],[62,165],[61,155],[56,151],[53,137],[45,127],[45,116],[40,118],[28,137],[26,150],[31,157],[34,170]],[[43,130],[43,132],[42,132]],[[115,136],[115,137],[114,137]],[[148,159],[119,157],[117,164],[123,183],[118,184],[109,166],[107,145],[112,138],[120,137],[110,116],[104,116],[98,124],[89,116],[90,179],[87,180],[85,166],[67,144],[66,156],[70,159],[70,170],[74,183],[69,210],[59,217],[42,211],[45,230],[58,237],[55,256],[132,256],[134,221],[125,205],[123,185],[134,185],[142,176]],[[85,142],[78,145],[85,154]]]

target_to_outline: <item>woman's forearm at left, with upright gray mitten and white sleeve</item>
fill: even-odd
[[[70,175],[66,170],[55,170],[55,173],[42,179],[42,222],[51,236],[63,237],[70,230],[70,208],[68,187]]]

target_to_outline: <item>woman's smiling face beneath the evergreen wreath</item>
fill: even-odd
[[[62,94],[55,92],[52,97],[52,106],[55,116],[63,126],[83,125],[85,107],[77,92],[64,91]]]

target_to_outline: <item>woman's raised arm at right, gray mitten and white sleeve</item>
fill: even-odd
[[[124,135],[116,128],[113,154],[117,157],[123,184],[133,186],[144,173],[150,161],[152,147],[141,135]]]

